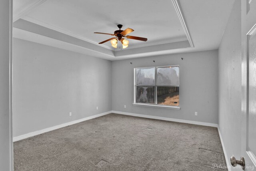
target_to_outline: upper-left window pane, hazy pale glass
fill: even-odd
[[[155,68],[137,68],[136,85],[155,85]]]

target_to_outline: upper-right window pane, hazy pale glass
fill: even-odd
[[[156,85],[179,85],[179,67],[168,66],[157,68],[157,83]]]

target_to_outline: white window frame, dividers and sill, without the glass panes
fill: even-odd
[[[180,73],[180,66],[179,65],[170,65],[171,67],[175,67],[178,66],[179,67],[179,73]],[[171,105],[161,105],[161,104],[157,104],[157,68],[161,68],[161,67],[170,67],[170,66],[151,66],[151,67],[139,67],[139,68],[134,68],[134,103],[132,103],[132,105],[134,106],[146,106],[146,107],[158,107],[158,108],[166,108],[166,109],[180,109],[180,106],[171,106]],[[140,68],[155,68],[155,85],[139,85],[139,86],[147,86],[147,87],[155,87],[155,103],[154,104],[150,104],[150,103],[136,103],[136,69],[140,69]],[[179,77],[180,79],[180,77]],[[180,81],[179,81],[180,82]],[[180,87],[180,85],[167,85],[167,86],[160,86],[160,87]],[[180,95],[180,91],[179,91],[179,95]],[[179,96],[179,104],[180,104],[180,96]]]

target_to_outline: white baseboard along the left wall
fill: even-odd
[[[46,132],[49,132],[49,131],[53,131],[55,129],[66,127],[68,125],[73,125],[73,124],[76,124],[76,123],[79,123],[79,122],[82,122],[82,121],[87,121],[87,120],[90,120],[90,119],[94,119],[96,117],[107,115],[109,113],[112,113],[112,111],[107,111],[107,112],[100,113],[100,114],[97,114],[97,115],[92,115],[92,116],[85,117],[85,118],[82,118],[82,119],[78,119],[78,120],[75,120],[75,121],[71,121],[71,122],[68,122],[68,123],[63,123],[63,124],[60,124],[60,125],[56,125],[56,126],[53,126],[53,127],[42,129],[42,130],[39,130],[39,131],[34,131],[34,132],[26,133],[24,135],[13,137],[12,141],[15,142],[15,141],[19,141],[19,140],[22,140],[22,139],[25,139],[25,138],[33,137],[33,136],[39,135],[41,133],[46,133]]]

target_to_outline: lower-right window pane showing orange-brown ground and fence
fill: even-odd
[[[157,104],[180,105],[179,87],[157,87]]]

